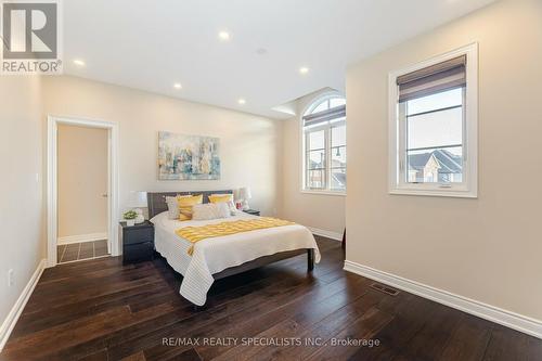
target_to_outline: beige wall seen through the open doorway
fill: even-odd
[[[106,129],[59,125],[59,237],[107,232]]]

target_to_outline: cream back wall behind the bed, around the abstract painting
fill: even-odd
[[[275,214],[281,123],[76,77],[43,81],[44,114],[119,125],[120,210],[130,191],[202,191],[250,186],[250,206]],[[158,131],[220,138],[221,179],[158,181]]]

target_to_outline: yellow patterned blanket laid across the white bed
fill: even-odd
[[[191,225],[181,228],[177,230],[176,233],[177,235],[192,243],[192,246],[188,252],[189,255],[192,256],[192,254],[194,253],[194,244],[205,238],[219,237],[223,235],[291,224],[295,223],[272,217],[259,217],[258,219],[243,219],[232,222],[221,222],[199,227]]]

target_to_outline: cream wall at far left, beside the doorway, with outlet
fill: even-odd
[[[38,77],[0,77],[0,322],[44,258],[40,96]]]

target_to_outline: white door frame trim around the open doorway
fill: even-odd
[[[54,267],[56,259],[57,230],[57,156],[59,125],[83,126],[107,130],[107,247],[112,256],[119,255],[118,232],[118,124],[113,121],[60,117],[47,117],[47,267]]]

